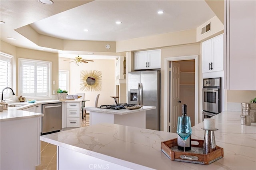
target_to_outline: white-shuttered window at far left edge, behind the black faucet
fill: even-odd
[[[0,95],[5,87],[12,88],[12,55],[0,52]],[[4,90],[4,99],[11,98],[11,91]]]

